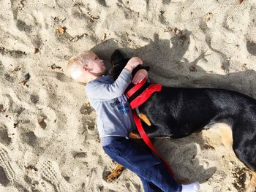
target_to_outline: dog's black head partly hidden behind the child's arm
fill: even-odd
[[[124,69],[124,66],[127,65],[127,62],[129,61],[129,58],[125,58],[124,55],[119,51],[115,50],[114,53],[111,55],[111,64],[112,69],[110,71],[110,74],[112,75],[113,79],[116,80],[121,71]],[[132,71],[132,76],[135,75],[136,72],[140,69],[146,69],[149,70],[149,66],[137,66]]]

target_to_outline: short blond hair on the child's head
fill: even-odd
[[[72,79],[79,81],[82,74],[82,67],[87,63],[86,59],[91,51],[79,53],[78,55],[69,58],[67,69]]]

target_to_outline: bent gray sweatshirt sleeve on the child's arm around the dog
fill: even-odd
[[[104,82],[88,82],[86,85],[86,95],[91,99],[110,100],[121,96],[132,82],[132,74],[123,69],[113,84]]]

